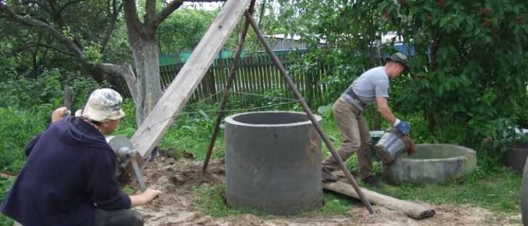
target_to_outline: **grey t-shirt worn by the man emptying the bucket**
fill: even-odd
[[[350,86],[364,103],[374,103],[376,97],[389,97],[389,77],[383,66],[365,71]]]

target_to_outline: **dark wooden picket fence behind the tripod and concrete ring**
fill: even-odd
[[[287,70],[298,62],[304,52],[293,52],[288,54],[279,54],[278,58]],[[200,101],[204,99],[221,99],[223,90],[226,87],[230,66],[234,58],[217,59],[207,71],[204,79],[197,86],[191,101]],[[165,90],[173,81],[183,64],[171,64],[160,66],[160,84]],[[290,76],[295,82],[300,93],[308,103],[322,104],[326,103],[324,92],[326,86],[320,82],[327,72],[328,68],[323,64],[317,66],[317,69],[310,71],[308,74],[295,73],[290,71]],[[130,97],[125,81],[121,77],[115,77],[112,84],[125,96]],[[268,54],[260,53],[244,56],[239,62],[239,68],[235,77],[235,82],[231,88],[231,98],[252,99],[252,95],[267,96],[274,98],[294,99],[293,93],[285,83],[283,75],[273,64]],[[219,94],[219,95],[218,95]]]

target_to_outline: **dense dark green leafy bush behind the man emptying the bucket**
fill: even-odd
[[[524,1],[380,5],[388,14],[385,25],[414,40],[418,52],[413,73],[394,90],[398,110],[423,112],[440,142],[479,151],[503,148],[507,127],[528,114],[527,10]]]

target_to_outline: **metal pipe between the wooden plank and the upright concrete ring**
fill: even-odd
[[[253,12],[253,8],[255,5],[255,1],[253,0],[250,3],[250,12]],[[237,74],[238,64],[240,60],[240,54],[242,53],[242,49],[245,42],[245,36],[248,34],[248,29],[250,27],[250,23],[248,19],[245,20],[244,26],[242,27],[239,45],[237,46],[237,51],[235,53],[235,60],[233,60],[233,63],[231,64],[231,67],[229,68],[229,77],[226,84],[226,88],[224,90],[224,97],[220,103],[220,108],[218,110],[218,115],[215,122],[215,128],[213,129],[213,135],[211,136],[211,140],[209,141],[209,146],[207,147],[207,153],[204,160],[204,165],[202,166],[202,173],[205,173],[207,171],[207,166],[209,164],[209,159],[211,159],[211,153],[213,153],[213,147],[215,147],[215,141],[218,136],[218,130],[220,127],[220,123],[222,118],[224,117],[224,110],[226,110],[227,101],[229,99],[231,87],[233,84],[233,81],[235,81],[235,75]]]

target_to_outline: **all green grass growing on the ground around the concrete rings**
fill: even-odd
[[[182,114],[180,114],[173,125],[168,129],[164,138],[160,142],[160,147],[163,151],[169,153],[174,158],[180,158],[184,151],[193,153],[198,161],[204,159],[207,145],[213,131],[213,126],[216,118],[214,110],[217,109],[216,104],[202,104],[193,108],[186,108]],[[298,108],[291,108],[293,110],[300,111]],[[125,112],[128,114],[125,119],[121,122],[118,130],[115,134],[132,136],[135,131],[135,118],[134,118],[134,107],[130,101],[125,102]],[[19,120],[19,112],[12,110],[3,112],[3,118],[9,118],[9,122]],[[228,114],[235,114],[230,112]],[[339,131],[335,127],[335,123],[331,114],[326,112],[320,112],[323,116],[323,128],[326,134],[333,142],[333,145],[337,148],[341,140]],[[19,126],[25,128],[27,131],[23,131],[24,140],[29,140],[38,131],[43,129],[45,122],[34,123],[28,121],[32,127],[24,126],[25,121],[20,119],[17,123],[19,125],[5,124],[3,128],[6,136],[3,136],[4,145],[13,145],[14,142],[8,142],[10,136],[10,130],[8,128]],[[38,126],[35,126],[38,125]],[[0,126],[1,128],[1,126]],[[11,134],[12,135],[12,134]],[[19,140],[20,141],[20,140]],[[24,141],[25,142],[25,141]],[[0,142],[2,143],[2,142]],[[16,148],[13,150],[22,151],[25,143],[16,143]],[[325,145],[322,145],[323,157],[329,155],[328,149]],[[217,142],[215,143],[215,149],[213,149],[213,158],[224,157],[224,131],[220,129]],[[477,156],[479,156],[477,154]],[[1,156],[4,162],[14,162],[21,160],[19,155],[3,155]],[[1,161],[0,161],[1,162]],[[20,161],[19,161],[20,162]],[[520,186],[522,176],[515,173],[512,170],[507,169],[501,163],[496,162],[494,167],[481,168],[481,162],[477,160],[479,167],[477,171],[470,176],[465,182],[451,182],[446,184],[428,184],[423,186],[412,186],[409,184],[402,184],[398,186],[384,185],[381,188],[371,188],[382,194],[387,194],[398,199],[405,200],[417,200],[433,204],[467,204],[477,205],[482,208],[487,208],[493,212],[502,214],[518,214],[520,212]],[[6,166],[0,166],[3,170],[13,169],[16,171],[22,163],[7,164]],[[357,158],[355,155],[346,161],[348,168],[351,171],[357,172]],[[20,165],[20,166],[19,166]],[[380,175],[381,170],[379,164],[374,163],[374,174]],[[0,179],[0,192],[5,192],[10,188],[12,181],[6,179]],[[125,188],[125,192],[132,192],[132,190]],[[244,213],[241,210],[231,210],[226,206],[225,203],[225,186],[212,186],[204,188],[196,188],[200,197],[197,205],[206,213],[211,216],[229,216],[232,214]],[[2,196],[3,197],[3,196]],[[324,205],[320,210],[316,210],[317,214],[331,215],[331,214],[348,214],[350,205],[352,204],[351,199],[343,197],[339,194],[326,193],[324,194]],[[259,212],[252,212],[252,214],[262,214]],[[0,217],[1,225],[10,225],[11,221],[5,217]]]

